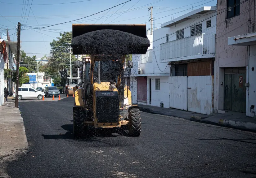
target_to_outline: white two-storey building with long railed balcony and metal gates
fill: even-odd
[[[215,7],[201,7],[154,30],[147,54],[132,56],[132,102],[213,112],[215,33]]]

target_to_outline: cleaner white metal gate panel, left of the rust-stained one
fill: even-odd
[[[187,76],[170,78],[170,107],[187,111]]]

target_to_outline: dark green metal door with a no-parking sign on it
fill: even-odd
[[[224,70],[224,109],[246,112],[246,67]]]

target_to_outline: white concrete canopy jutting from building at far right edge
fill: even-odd
[[[229,37],[227,44],[235,46],[256,45],[256,32]]]

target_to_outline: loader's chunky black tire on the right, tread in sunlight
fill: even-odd
[[[137,108],[129,111],[129,134],[133,137],[139,137],[141,134],[141,112]]]

